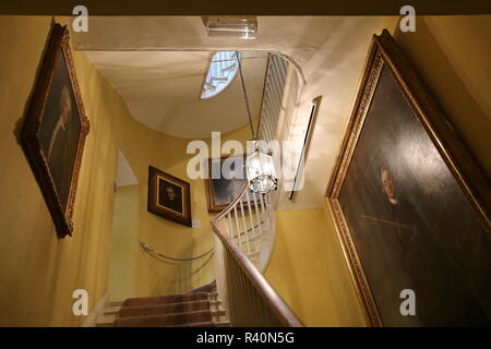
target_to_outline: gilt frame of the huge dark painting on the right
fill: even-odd
[[[450,123],[439,110],[432,96],[422,85],[417,73],[398,49],[393,37],[384,29],[382,35],[373,36],[345,137],[325,194],[351,279],[369,326],[383,326],[383,323],[338,197],[384,65],[388,68],[395,77],[399,88],[424,127],[446,166],[472,204],[483,226],[487,227],[488,233],[491,233],[489,214],[491,189],[487,176],[475,164]]]

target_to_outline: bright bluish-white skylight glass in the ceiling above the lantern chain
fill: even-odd
[[[221,51],[213,55],[201,92],[202,99],[218,95],[230,84],[239,70],[239,59],[238,51]]]

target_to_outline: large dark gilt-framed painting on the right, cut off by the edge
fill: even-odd
[[[491,325],[490,193],[392,36],[374,36],[326,191],[369,325]]]

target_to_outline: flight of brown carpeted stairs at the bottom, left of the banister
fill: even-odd
[[[97,327],[228,327],[216,282],[187,293],[111,302]]]

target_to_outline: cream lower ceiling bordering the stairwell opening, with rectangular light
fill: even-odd
[[[259,50],[287,55],[300,67],[307,82],[297,106],[294,135],[304,129],[312,98],[323,96],[306,160],[304,186],[294,203],[285,200],[286,193],[282,193],[282,209],[298,209],[324,206],[324,192],[345,133],[370,40],[373,34],[380,34],[383,23],[384,17],[380,16],[259,16],[258,38],[241,40],[208,37],[199,16],[97,16],[91,17],[88,33],[73,33],[72,37],[75,49],[87,51],[93,59],[96,51],[101,50],[143,50],[147,52],[142,55],[148,57],[154,55],[152,51],[165,50]],[[124,72],[119,69],[117,74]],[[199,88],[192,93],[193,98],[197,98]],[[240,104],[240,108],[231,110],[242,112],[242,109]],[[187,117],[184,111],[178,119]],[[171,121],[169,127],[173,125],[176,118],[171,113],[163,118]],[[229,122],[227,118],[224,116],[224,120]],[[190,119],[183,124],[193,127]],[[176,127],[175,130],[178,129]]]

